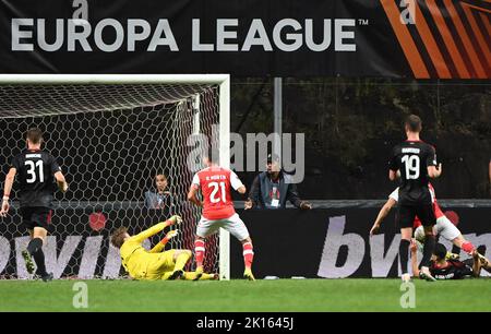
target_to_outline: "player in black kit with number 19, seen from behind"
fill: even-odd
[[[427,281],[435,281],[430,273],[431,255],[434,251],[435,237],[433,226],[436,224],[432,199],[428,182],[430,178],[438,178],[442,174],[441,164],[436,165],[436,156],[433,146],[419,139],[421,132],[421,119],[410,115],[405,122],[407,141],[393,150],[390,162],[388,178],[394,181],[400,172],[399,205],[397,224],[400,227],[399,257],[403,281],[408,282],[408,253],[412,237],[412,223],[418,216],[424,227],[426,241],[421,271],[419,277]]]

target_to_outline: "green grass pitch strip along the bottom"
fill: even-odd
[[[87,309],[73,307],[76,282],[0,281],[0,311],[491,311],[489,278],[416,281],[415,309],[399,279],[84,281]]]

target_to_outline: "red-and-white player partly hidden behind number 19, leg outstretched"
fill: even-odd
[[[431,183],[428,184],[428,188],[431,193],[431,199],[433,202],[433,212],[436,217],[436,225],[433,227],[434,235],[442,236],[446,240],[452,241],[455,246],[462,248],[466,253],[470,255],[475,250],[474,244],[467,241],[460,234],[458,228],[454,224],[452,224],[452,222],[443,214]],[[379,232],[382,222],[388,215],[394,205],[397,204],[398,191],[399,188],[396,188],[396,190],[394,190],[388,195],[387,202],[385,202],[384,206],[380,210],[375,223],[373,224],[373,227],[370,230],[371,236],[376,235]],[[424,229],[418,217],[415,218],[414,228],[415,228],[415,238],[418,241],[419,246],[421,247],[421,244],[424,243]]]

